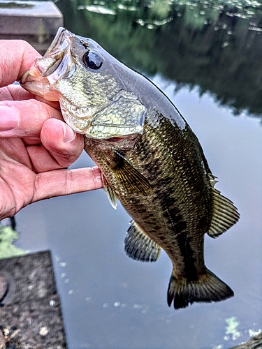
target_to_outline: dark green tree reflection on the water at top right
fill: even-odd
[[[209,91],[235,114],[242,110],[262,114],[259,3],[123,0],[102,6],[101,1],[82,2],[57,2],[67,29],[92,36],[147,75],[161,73],[177,82],[177,89],[198,85],[200,94]]]

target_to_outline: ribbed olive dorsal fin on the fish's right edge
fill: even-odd
[[[220,191],[214,188],[217,183],[212,174],[209,174],[210,184],[212,186],[212,220],[208,235],[210,237],[219,237],[226,232],[232,225],[237,223],[239,219],[238,209],[233,205],[233,202],[221,195]]]

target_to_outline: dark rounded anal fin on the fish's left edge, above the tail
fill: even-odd
[[[130,223],[124,239],[124,251],[133,260],[155,262],[159,258],[161,247],[147,237],[135,221]]]

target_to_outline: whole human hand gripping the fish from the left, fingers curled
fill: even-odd
[[[65,169],[84,141],[62,121],[59,103],[13,84],[40,54],[22,40],[0,47],[0,219],[38,200],[101,188],[98,168]]]

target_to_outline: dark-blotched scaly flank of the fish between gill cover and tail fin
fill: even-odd
[[[201,154],[195,147],[189,151],[189,160],[192,162],[195,159],[196,163],[191,164],[189,173],[187,158],[184,157],[185,146],[187,149],[189,147],[189,144],[184,144],[187,138],[180,128],[174,128],[163,116],[159,115],[159,118],[162,122],[157,128],[145,124],[142,138],[126,154],[130,163],[149,179],[152,193],[145,196],[122,192],[113,175],[108,175],[107,179],[140,228],[168,253],[176,276],[198,279],[198,275],[205,271],[203,235],[208,232],[211,220],[211,188],[206,185],[208,181],[197,181],[199,177],[206,176],[198,159]],[[170,142],[170,132],[176,140],[175,144]],[[191,130],[185,132],[190,133]],[[85,149],[101,170],[108,174],[110,162],[103,161],[104,153],[96,150],[99,147],[95,143],[96,140],[86,138]],[[198,195],[196,190],[199,191]],[[196,233],[196,229],[199,233]]]

